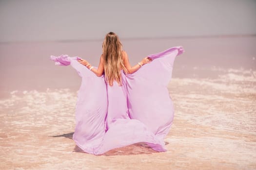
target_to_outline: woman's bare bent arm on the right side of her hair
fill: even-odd
[[[124,61],[124,66],[128,71],[128,74],[132,74],[135,71],[137,71],[140,67],[142,67],[143,65],[150,63],[152,61],[151,58],[149,57],[145,57],[143,58],[137,65],[135,65],[134,67],[131,67],[130,62],[129,62],[129,58],[128,55],[125,51],[122,51],[122,56],[123,56],[123,61]],[[139,66],[139,64],[141,66]]]

